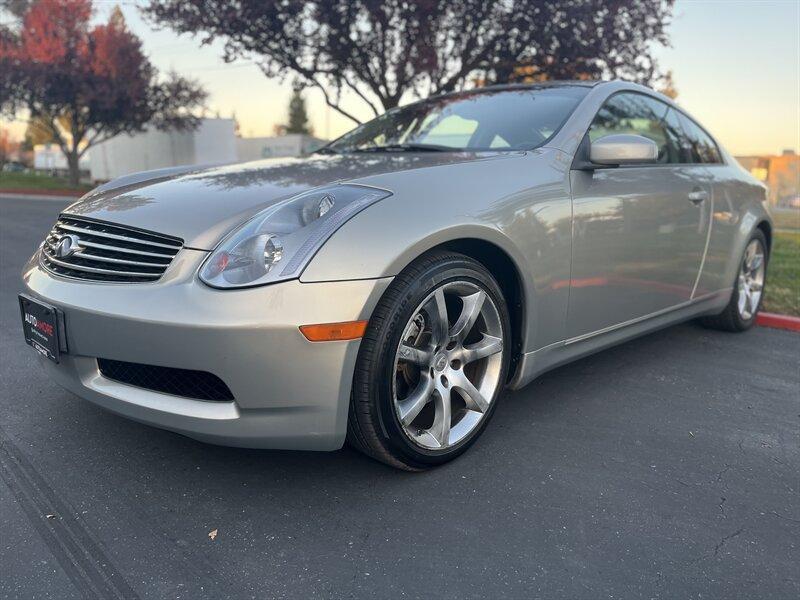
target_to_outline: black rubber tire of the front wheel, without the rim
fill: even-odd
[[[395,353],[406,324],[439,286],[468,281],[491,297],[502,323],[500,379],[482,421],[459,443],[444,450],[414,444],[403,432],[393,405]],[[407,471],[422,471],[453,460],[480,436],[497,408],[510,359],[510,320],[500,286],[481,263],[454,252],[434,251],[400,273],[378,302],[358,353],[350,401],[347,441],[364,454]]]

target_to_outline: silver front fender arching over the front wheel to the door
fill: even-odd
[[[567,168],[560,153],[544,150],[439,167],[425,178],[366,181],[394,195],[342,226],[301,281],[390,277],[432,248],[481,240],[505,253],[518,272],[527,315],[523,349],[561,341],[572,241]]]

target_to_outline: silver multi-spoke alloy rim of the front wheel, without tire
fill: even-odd
[[[494,401],[503,350],[489,294],[469,281],[435,289],[414,311],[395,356],[393,402],[405,435],[429,450],[464,440]]]

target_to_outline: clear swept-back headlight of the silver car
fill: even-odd
[[[343,184],[279,202],[222,240],[200,268],[200,279],[217,288],[294,279],[348,219],[388,196],[386,190]]]

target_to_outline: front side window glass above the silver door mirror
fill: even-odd
[[[633,134],[653,140],[658,146],[658,162],[679,163],[680,147],[665,117],[669,107],[643,94],[622,93],[609,98],[589,127],[589,139],[606,135]]]

